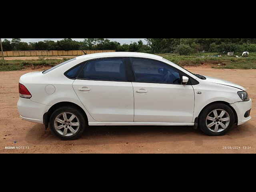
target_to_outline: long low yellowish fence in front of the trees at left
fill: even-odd
[[[103,53],[103,52],[115,52],[115,50],[84,50],[86,54],[92,53]],[[72,50],[72,51],[4,51],[4,56],[11,57],[20,57],[20,56],[77,56],[83,55],[84,53],[81,50]],[[2,56],[2,52],[0,52]]]

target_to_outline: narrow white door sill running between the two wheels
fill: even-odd
[[[194,123],[168,123],[168,122],[89,122],[90,126],[194,126]]]

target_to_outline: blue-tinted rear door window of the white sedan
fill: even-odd
[[[78,78],[87,80],[127,81],[124,60],[123,58],[106,58],[88,61]]]

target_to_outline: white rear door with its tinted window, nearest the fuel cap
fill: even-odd
[[[124,58],[86,62],[73,88],[94,120],[133,122],[133,88],[126,72]]]

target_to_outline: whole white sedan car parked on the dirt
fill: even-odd
[[[246,89],[193,74],[156,55],[111,52],[79,56],[23,75],[20,117],[50,125],[63,140],[88,126],[195,126],[220,136],[251,119]]]

